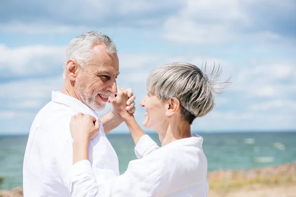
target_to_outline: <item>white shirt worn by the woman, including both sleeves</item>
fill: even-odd
[[[135,147],[138,160],[131,161],[124,174],[105,182],[104,174],[94,173],[88,160],[77,162],[72,167],[71,196],[207,197],[202,142],[201,136],[193,134],[159,148],[144,135]]]

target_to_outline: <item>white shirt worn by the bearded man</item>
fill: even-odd
[[[52,92],[52,100],[37,114],[24,157],[25,197],[70,196],[73,139],[69,125],[78,112],[99,118],[78,99],[60,92]],[[118,158],[101,122],[99,133],[89,145],[89,160],[92,173],[100,175],[98,183],[119,176]]]

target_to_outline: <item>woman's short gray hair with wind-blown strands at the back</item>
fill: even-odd
[[[179,99],[183,118],[192,124],[196,117],[202,117],[214,108],[215,94],[222,94],[230,83],[230,78],[217,81],[222,70],[220,65],[214,64],[210,75],[206,74],[206,64],[202,67],[180,62],[159,66],[149,73],[147,89],[161,101]]]

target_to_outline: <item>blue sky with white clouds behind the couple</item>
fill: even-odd
[[[0,134],[30,131],[61,90],[68,43],[90,30],[116,43],[117,84],[134,90],[140,125],[153,68],[207,62],[232,83],[192,131],[296,131],[295,0],[1,0]]]

